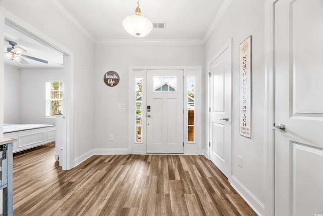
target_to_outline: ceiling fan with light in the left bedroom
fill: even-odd
[[[38,59],[38,58],[35,58],[35,57],[32,57],[32,56],[27,56],[27,55],[22,54],[23,52],[26,52],[26,50],[24,50],[24,49],[22,49],[20,47],[16,47],[17,46],[16,42],[9,41],[9,44],[12,47],[7,48],[7,51],[5,51],[5,55],[7,57],[9,57],[11,60],[18,60],[21,64],[29,64],[25,59],[22,58],[22,57],[25,57],[27,59],[32,59],[32,60],[35,60],[35,61],[38,61],[38,62],[48,64],[48,61],[46,61],[46,60]]]

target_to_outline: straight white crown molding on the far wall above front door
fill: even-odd
[[[204,45],[202,39],[96,39],[94,45]]]

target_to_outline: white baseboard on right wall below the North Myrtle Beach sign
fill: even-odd
[[[237,178],[231,176],[230,183],[258,215],[264,215],[264,204],[260,202],[260,200],[258,200],[257,197],[255,197],[241,182],[239,182]]]

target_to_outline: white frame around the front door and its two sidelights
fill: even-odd
[[[128,121],[128,154],[146,154],[146,139],[145,136],[142,137],[142,142],[136,143],[135,142],[135,78],[136,76],[140,76],[143,78],[142,82],[146,82],[146,71],[147,70],[184,70],[184,76],[194,76],[196,78],[196,99],[194,99],[194,113],[196,112],[196,116],[194,118],[194,122],[196,122],[196,133],[194,133],[194,142],[187,142],[187,119],[185,116],[187,116],[187,109],[184,108],[184,154],[201,154],[201,148],[202,148],[202,82],[201,82],[201,66],[130,66],[129,67],[129,121]],[[186,80],[186,79],[184,79]],[[184,82],[184,90],[187,89],[187,83]],[[142,87],[142,116],[146,116],[146,87],[143,85]],[[185,100],[184,98],[184,106],[185,106]],[[145,132],[145,125],[146,125],[146,119],[145,117],[142,117],[142,131]],[[195,123],[194,123],[195,125]],[[195,129],[195,128],[194,128]],[[196,139],[195,139],[196,138]]]

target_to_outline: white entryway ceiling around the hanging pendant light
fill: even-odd
[[[166,28],[154,28],[145,37],[130,35],[122,26],[127,16],[135,15],[136,0],[48,0],[94,44],[122,40],[185,41],[203,43],[217,15],[232,0],[140,0],[141,16],[152,23],[164,22]],[[221,10],[220,10],[221,9]],[[219,16],[218,16],[219,17]],[[129,42],[129,41],[128,41]]]

